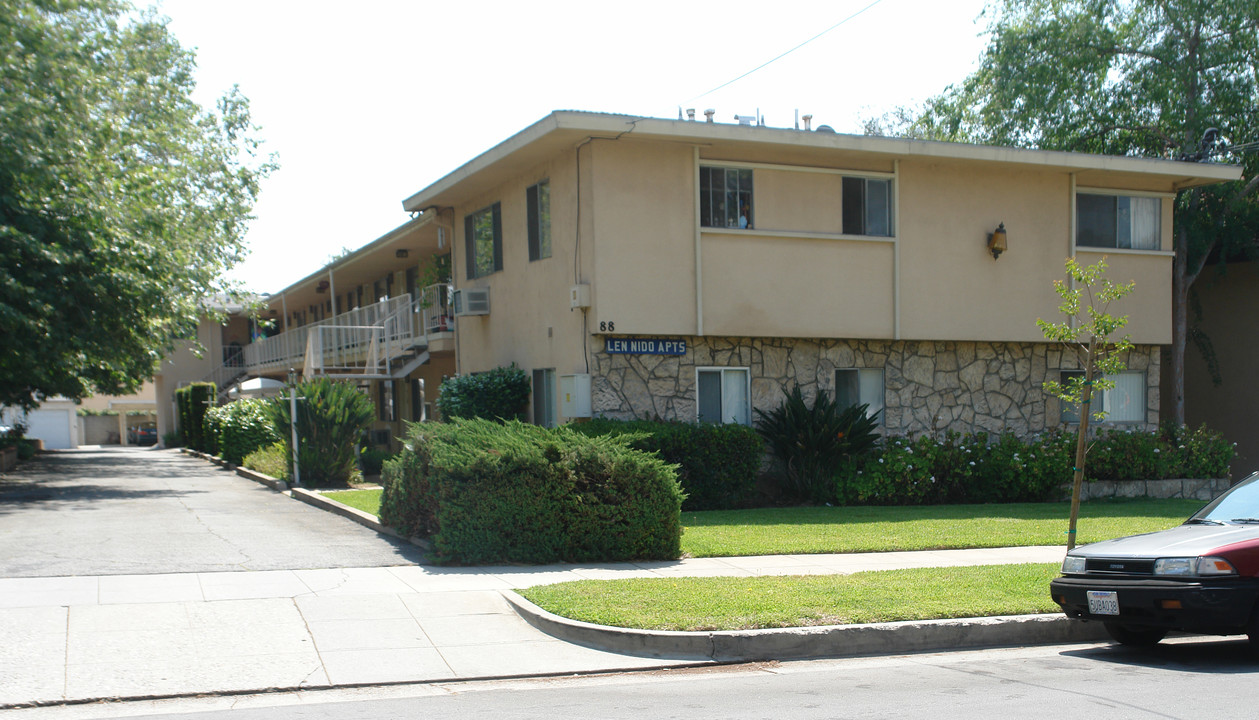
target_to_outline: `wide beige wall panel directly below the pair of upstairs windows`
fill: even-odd
[[[861,240],[704,238],[704,332],[889,339],[893,245]]]

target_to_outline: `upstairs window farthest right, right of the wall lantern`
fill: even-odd
[[[1158,198],[1075,195],[1075,244],[1084,248],[1157,250],[1162,247]]]

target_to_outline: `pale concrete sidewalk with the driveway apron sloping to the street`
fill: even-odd
[[[502,590],[577,579],[836,574],[1056,563],[1061,556],[1063,548],[1053,546],[529,568],[408,565],[0,579],[0,709],[705,662],[684,652],[672,657],[661,656],[658,648],[641,652],[611,628],[596,627],[593,634],[587,628],[587,634],[573,637],[584,646],[556,639],[522,619]],[[774,638],[781,642],[793,631],[754,632],[760,633],[753,642],[765,648],[763,657],[773,657],[779,647]],[[816,637],[810,642],[816,644]]]

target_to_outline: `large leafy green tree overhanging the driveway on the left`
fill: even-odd
[[[247,99],[115,0],[0,3],[0,405],[135,391],[242,259]]]

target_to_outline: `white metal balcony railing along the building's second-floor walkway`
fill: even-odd
[[[244,347],[251,373],[302,368],[311,373],[380,374],[408,350],[426,346],[427,336],[453,329],[449,286],[424,288],[419,302],[409,293],[354,308],[262,339]]]

